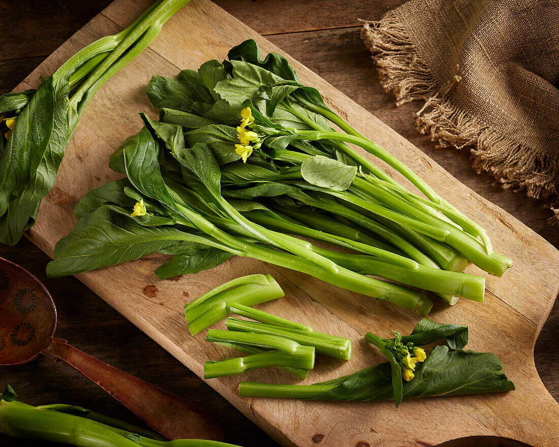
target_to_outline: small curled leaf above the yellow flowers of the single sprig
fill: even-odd
[[[415,346],[423,346],[442,339],[446,339],[449,348],[462,349],[468,344],[468,326],[440,324],[423,318],[410,335],[402,337],[402,343],[411,341]]]

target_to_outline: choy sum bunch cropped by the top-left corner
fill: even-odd
[[[159,34],[190,0],[155,0],[125,30],[92,42],[36,90],[0,96],[0,242],[16,244],[35,224],[64,150],[105,82]]]

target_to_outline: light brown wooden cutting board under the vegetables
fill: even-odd
[[[133,0],[112,3],[16,90],[37,87],[39,75],[52,73],[84,45],[129,25],[148,3]],[[108,156],[127,136],[139,131],[139,112],[157,117],[144,93],[151,75],[176,76],[179,70],[197,69],[206,60],[225,59],[231,46],[248,38],[257,40],[264,53],[281,53],[208,0],[192,0],[171,18],[150,47],[111,78],[89,104],[70,141],[53,191],[42,202],[37,224],[27,236],[52,256],[56,241],[74,225],[72,210],[78,200],[90,189],[119,177],[108,169]],[[204,334],[191,337],[182,307],[209,289],[244,274],[271,273],[286,292],[285,298],[260,308],[309,322],[318,330],[351,337],[354,355],[349,362],[319,358],[310,377],[302,382],[275,368],[207,381],[283,445],[431,446],[458,438],[462,439],[459,445],[467,445],[478,441],[479,436],[490,436],[491,445],[498,444],[500,438],[509,439],[506,445],[522,445],[512,440],[537,447],[559,445],[559,405],[544,388],[533,359],[534,343],[559,288],[559,251],[459,183],[318,75],[295,60],[290,61],[303,83],[317,87],[330,106],[359,132],[395,154],[449,202],[484,226],[495,249],[514,260],[514,267],[503,278],[490,277],[474,266],[468,267],[466,272],[487,278],[485,303],[467,299],[461,299],[454,307],[435,303],[430,317],[439,322],[470,326],[468,348],[497,354],[517,390],[404,401],[398,410],[393,402],[241,398],[238,393],[241,378],[314,383],[383,362],[378,350],[364,342],[365,332],[389,336],[390,330],[395,329],[406,334],[419,317],[301,273],[236,257],[208,272],[179,280],[159,280],[153,274],[165,259],[160,255],[77,277],[198,375],[202,375],[206,360],[226,358],[231,352],[205,343]],[[395,177],[406,183],[399,175]],[[221,322],[216,327],[224,324]]]

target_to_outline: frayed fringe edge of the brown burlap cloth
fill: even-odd
[[[559,224],[558,160],[546,159],[456,107],[449,93],[460,82],[459,75],[438,85],[395,17],[366,22],[361,38],[371,51],[383,88],[396,97],[396,105],[416,99],[425,102],[416,113],[415,125],[421,134],[429,133],[440,148],[470,149],[477,172],[491,173],[503,188],[524,189],[529,197],[549,199],[550,222]]]

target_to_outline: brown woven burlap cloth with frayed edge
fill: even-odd
[[[410,0],[361,36],[420,132],[557,208],[559,0]]]

